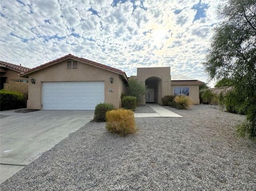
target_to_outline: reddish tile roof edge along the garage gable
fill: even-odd
[[[72,54],[68,54],[68,55],[66,55],[66,56],[63,56],[63,57],[58,58],[58,59],[56,59],[56,60],[53,60],[53,61],[51,61],[51,62],[47,62],[46,64],[42,64],[42,65],[40,65],[40,66],[37,66],[36,68],[32,68],[32,69],[26,71],[24,74],[22,74],[22,76],[24,76],[24,75],[26,75],[26,74],[28,74],[28,73],[30,73],[30,72],[34,72],[34,71],[37,71],[37,70],[41,70],[41,69],[43,69],[43,68],[45,68],[45,67],[47,67],[47,66],[50,66],[51,64],[55,64],[56,62],[60,62],[61,60],[66,60],[66,59],[69,59],[69,58],[72,58],[72,59],[75,59],[75,60],[78,60],[78,61],[81,61],[81,62],[86,62],[86,63],[88,63],[88,64],[92,64],[92,65],[94,65],[94,66],[98,66],[98,67],[100,67],[100,68],[104,68],[104,69],[106,69],[106,70],[110,70],[110,71],[113,71],[113,72],[116,72],[116,73],[118,73],[118,74],[122,74],[122,75],[125,75],[125,76],[126,76],[125,72],[123,72],[122,70],[118,70],[118,69],[116,69],[116,68],[112,68],[112,67],[110,67],[110,66],[106,66],[106,65],[104,65],[104,64],[100,64],[100,63],[98,63],[98,62],[93,62],[93,61],[91,61],[91,60],[87,60],[87,59],[84,59],[84,58],[80,58],[80,57],[77,57],[77,56],[73,56]],[[126,76],[126,79],[127,79],[127,76]]]

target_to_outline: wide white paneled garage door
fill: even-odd
[[[104,102],[104,82],[43,82],[44,110],[94,110]]]

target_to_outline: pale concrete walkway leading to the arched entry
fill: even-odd
[[[134,117],[182,117],[158,104],[149,104],[156,113],[134,113]]]

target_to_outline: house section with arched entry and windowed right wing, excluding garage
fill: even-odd
[[[137,68],[136,78],[140,82],[145,82],[149,89],[143,104],[161,104],[162,97],[166,95],[190,96],[194,104],[200,104],[199,85],[203,82],[186,76],[171,76],[170,72],[170,67]]]

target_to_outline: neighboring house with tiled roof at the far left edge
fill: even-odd
[[[4,88],[4,83],[7,83],[8,81],[28,82],[27,78],[21,78],[18,76],[20,73],[26,72],[28,70],[30,70],[30,68],[0,61],[0,89],[2,90]]]

